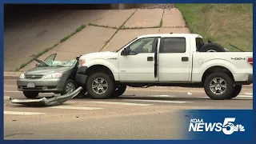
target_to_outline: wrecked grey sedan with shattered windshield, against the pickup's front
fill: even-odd
[[[19,76],[18,90],[22,91],[26,98],[37,98],[39,93],[63,95],[78,88],[75,80],[78,70],[77,59],[56,61],[56,55],[51,54],[44,61],[34,58],[39,64]]]

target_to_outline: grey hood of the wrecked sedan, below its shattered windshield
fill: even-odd
[[[35,67],[34,69],[27,70],[25,74],[53,74],[53,73],[58,73],[62,72],[63,70],[68,70],[70,67]]]

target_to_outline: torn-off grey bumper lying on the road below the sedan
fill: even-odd
[[[82,86],[78,87],[78,89],[74,90],[72,93],[54,96],[53,98],[11,99],[10,102],[26,106],[58,106],[77,96],[81,90]]]

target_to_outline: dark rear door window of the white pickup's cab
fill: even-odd
[[[185,53],[186,38],[162,38],[160,53]]]

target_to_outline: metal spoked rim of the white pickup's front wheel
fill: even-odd
[[[94,90],[94,93],[104,94],[104,93],[106,93],[106,90],[109,88],[109,85],[106,82],[106,79],[104,79],[104,78],[95,78],[94,81],[91,84],[91,87]]]

